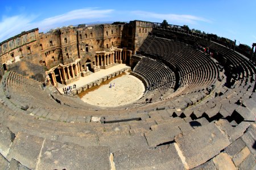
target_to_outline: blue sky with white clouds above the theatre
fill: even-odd
[[[188,25],[207,33],[256,42],[255,0],[6,1],[0,0],[0,42],[22,31],[91,22],[147,20]]]

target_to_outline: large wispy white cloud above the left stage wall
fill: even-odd
[[[100,19],[106,18],[113,10],[98,10],[97,8],[85,8],[69,11],[65,14],[53,16],[35,21],[36,15],[15,15],[2,16],[0,20],[0,42],[18,35],[22,31],[28,31],[33,28],[39,28],[39,31],[48,31],[51,28],[64,26],[64,23],[82,19]]]

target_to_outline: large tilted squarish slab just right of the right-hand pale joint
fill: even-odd
[[[175,137],[189,169],[207,162],[230,145],[228,138],[212,122]]]

